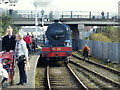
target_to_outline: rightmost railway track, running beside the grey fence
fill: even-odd
[[[79,64],[93,70],[94,72],[111,79],[113,82],[118,82],[118,84],[120,84],[120,81],[119,81],[120,72],[119,71],[111,69],[106,66],[103,66],[101,64],[92,62],[92,61],[85,60],[85,62],[84,62],[81,60],[80,57],[75,56],[75,55],[73,57],[76,58],[76,59],[73,58],[76,63],[79,63]]]

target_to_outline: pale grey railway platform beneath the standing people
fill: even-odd
[[[9,86],[7,89],[13,90],[13,89],[35,89],[35,72],[36,72],[36,66],[37,62],[40,56],[40,48],[37,49],[35,52],[30,54],[30,70],[27,70],[27,84],[26,85],[16,85],[19,82],[19,71],[17,65],[15,66],[15,76],[14,76],[14,82],[13,85]],[[4,90],[4,89],[3,89]]]

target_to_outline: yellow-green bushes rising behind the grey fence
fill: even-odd
[[[89,39],[103,42],[120,42],[118,27],[106,26],[99,28],[96,33],[90,35]]]

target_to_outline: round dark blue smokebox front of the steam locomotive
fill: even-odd
[[[52,46],[63,46],[67,36],[67,30],[63,24],[55,22],[46,31],[47,39]]]

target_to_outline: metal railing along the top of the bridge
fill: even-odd
[[[38,18],[42,17],[41,11],[37,12]],[[16,18],[35,18],[35,11],[12,11],[11,16]],[[45,11],[44,18],[87,18],[87,19],[118,19],[115,12],[95,12],[95,11]]]

